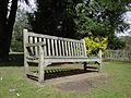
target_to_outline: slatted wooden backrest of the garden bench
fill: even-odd
[[[49,57],[86,57],[84,40],[68,39],[43,34],[35,34],[24,29],[24,46],[25,44],[36,44],[45,41],[44,56]],[[34,56],[38,56],[38,47],[31,48]]]

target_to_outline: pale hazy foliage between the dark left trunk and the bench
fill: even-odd
[[[16,51],[16,52],[23,51],[24,28],[31,29],[27,20],[27,12],[24,9],[19,8],[16,14],[16,21],[14,24],[13,35],[12,35],[12,41],[11,41],[12,51]]]

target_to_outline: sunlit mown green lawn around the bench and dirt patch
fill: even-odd
[[[106,84],[75,93],[39,87],[25,79],[23,66],[0,66],[0,98],[131,98],[131,63],[105,62],[103,72],[108,74]]]

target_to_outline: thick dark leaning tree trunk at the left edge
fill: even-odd
[[[28,3],[27,0],[25,0]],[[9,57],[19,0],[0,0],[0,61]]]

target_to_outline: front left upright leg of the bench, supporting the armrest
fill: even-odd
[[[44,50],[43,50],[43,47],[39,46],[39,62],[38,62],[38,69],[39,69],[39,76],[38,76],[38,82],[39,83],[44,83],[45,81],[45,71],[44,71],[44,68],[45,68],[45,61],[44,61]]]

